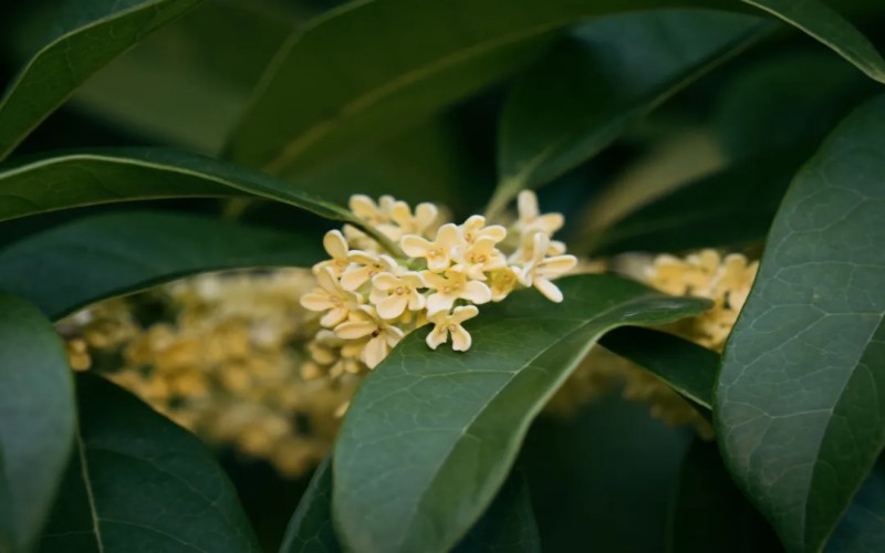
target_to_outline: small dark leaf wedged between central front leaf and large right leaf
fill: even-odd
[[[694,404],[712,408],[719,371],[716,352],[666,332],[634,327],[610,332],[600,345],[659,377]]]

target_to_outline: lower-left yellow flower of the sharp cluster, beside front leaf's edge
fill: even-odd
[[[358,356],[368,368],[375,368],[405,334],[381,319],[374,309],[364,305],[360,311],[353,312],[347,322],[335,327],[335,335],[348,341],[342,348],[342,354]]]

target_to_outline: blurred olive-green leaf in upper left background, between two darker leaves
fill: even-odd
[[[294,17],[257,0],[207,0],[76,90],[71,104],[189,150],[215,154]]]

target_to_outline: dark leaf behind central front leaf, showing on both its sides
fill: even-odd
[[[314,472],[285,530],[280,553],[337,553],[332,528],[332,462],[327,458]],[[494,502],[454,553],[539,552],[538,525],[529,488],[521,473],[512,474]]]

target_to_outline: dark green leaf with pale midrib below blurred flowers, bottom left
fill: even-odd
[[[127,392],[77,378],[80,430],[40,551],[259,552],[211,453]]]

